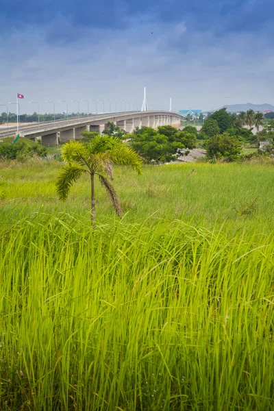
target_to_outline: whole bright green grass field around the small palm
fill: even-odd
[[[274,408],[273,165],[0,168],[1,410]]]

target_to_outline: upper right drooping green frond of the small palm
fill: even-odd
[[[123,142],[116,145],[110,150],[110,158],[114,164],[121,164],[123,166],[132,166],[132,169],[138,174],[142,173],[142,160],[136,151],[129,149]]]

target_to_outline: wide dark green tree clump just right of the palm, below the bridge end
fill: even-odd
[[[190,129],[195,127],[190,127]],[[195,147],[196,133],[191,134],[178,130],[170,125],[158,127],[137,128],[129,134],[130,146],[137,151],[146,162],[165,163],[175,160],[179,155],[185,155],[188,149]]]

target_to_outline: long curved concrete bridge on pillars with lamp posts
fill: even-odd
[[[43,123],[29,123],[21,125],[20,135],[35,140],[41,138],[42,145],[49,147],[62,144],[68,140],[80,140],[82,132],[97,131],[102,132],[108,122],[114,123],[131,133],[136,127],[153,127],[157,129],[160,125],[172,125],[180,127],[184,117],[178,113],[170,111],[133,111],[114,112],[105,114],[90,114],[77,119],[65,119],[58,121],[46,121]],[[1,136],[14,136],[16,126],[9,129],[0,129]]]

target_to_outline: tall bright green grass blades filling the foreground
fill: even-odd
[[[1,410],[273,410],[273,233],[13,219]]]

